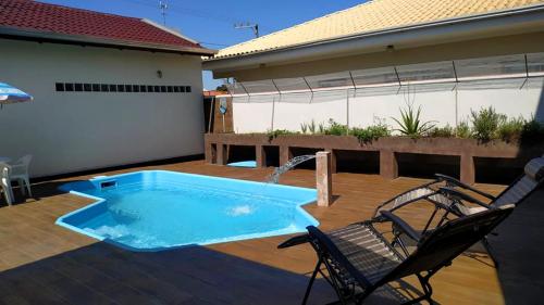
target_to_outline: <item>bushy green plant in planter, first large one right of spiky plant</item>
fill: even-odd
[[[472,136],[480,141],[496,139],[498,127],[506,120],[506,115],[497,113],[493,106],[478,112],[471,110],[470,114]]]

